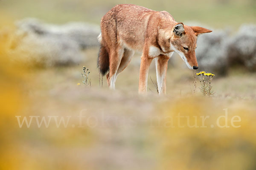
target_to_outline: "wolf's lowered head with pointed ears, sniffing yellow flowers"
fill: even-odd
[[[212,31],[198,26],[186,26],[183,23],[177,23],[172,28],[172,32],[173,35],[170,40],[172,50],[180,55],[188,68],[198,69],[198,62],[195,57],[198,34]]]

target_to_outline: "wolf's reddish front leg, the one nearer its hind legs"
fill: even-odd
[[[144,55],[141,57],[140,62],[140,80],[139,80],[139,94],[147,92],[148,84],[148,69],[153,58]]]

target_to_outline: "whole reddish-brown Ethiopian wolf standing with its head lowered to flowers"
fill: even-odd
[[[148,68],[155,58],[159,93],[166,93],[168,60],[177,52],[190,69],[197,69],[195,48],[198,34],[211,32],[198,26],[177,23],[166,11],[142,6],[114,6],[101,20],[98,65],[107,74],[108,85],[115,88],[116,77],[130,63],[134,51],[142,51],[139,93],[147,91]]]

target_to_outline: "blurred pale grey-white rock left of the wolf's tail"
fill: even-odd
[[[98,35],[99,27],[87,23],[56,26],[29,18],[17,22],[12,52],[26,65],[78,64],[83,57],[81,49],[98,45]]]

